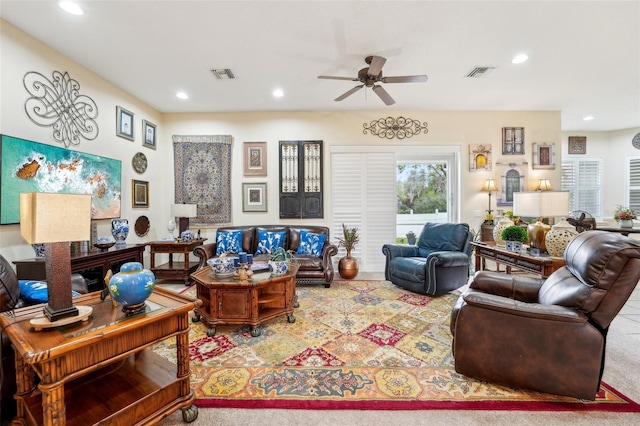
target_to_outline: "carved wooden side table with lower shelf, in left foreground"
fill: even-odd
[[[93,308],[89,319],[48,331],[30,325],[43,305],[0,314],[16,353],[14,424],[153,424],[178,409],[186,422],[197,418],[188,333],[189,311],[199,300],[156,287],[146,312],[131,317],[97,292],[74,303]],[[149,349],[170,337],[177,364]]]

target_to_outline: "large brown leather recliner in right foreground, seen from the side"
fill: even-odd
[[[593,400],[609,325],[640,279],[640,242],[586,231],[546,280],[477,272],[451,313],[457,372]]]

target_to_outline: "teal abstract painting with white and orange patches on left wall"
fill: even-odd
[[[0,136],[0,224],[20,222],[21,192],[91,194],[92,219],[120,217],[120,160]]]

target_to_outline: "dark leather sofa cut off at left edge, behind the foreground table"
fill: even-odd
[[[72,289],[78,293],[87,293],[87,284],[79,274],[73,274]],[[20,295],[20,284],[11,264],[0,255],[0,312],[11,311],[28,303]],[[13,418],[16,404],[13,395],[16,392],[15,358],[11,342],[6,333],[0,332],[0,422]]]

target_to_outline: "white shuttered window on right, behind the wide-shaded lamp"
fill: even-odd
[[[585,211],[602,218],[602,160],[562,162],[562,190],[569,191],[569,211]]]

